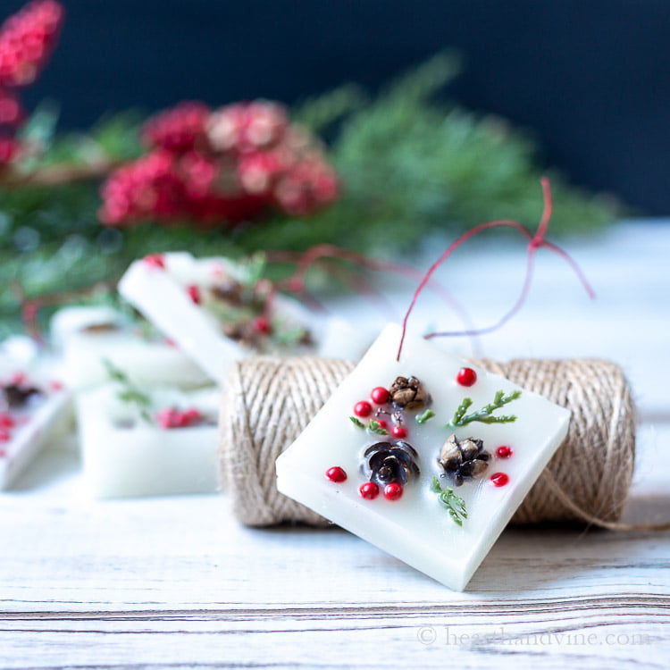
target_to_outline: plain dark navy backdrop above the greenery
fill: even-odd
[[[460,102],[532,130],[577,183],[670,214],[666,0],[65,0],[54,61],[26,102],[62,125],[184,98],[288,103],[346,80],[370,88],[444,47]],[[21,6],[0,0],[3,14]]]

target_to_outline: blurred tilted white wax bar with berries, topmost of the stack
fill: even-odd
[[[254,294],[255,282],[247,272],[244,265],[220,257],[197,259],[184,252],[147,256],[130,265],[119,291],[217,383],[230,364],[250,354],[318,353],[322,320],[281,296],[272,299],[268,319],[263,296]],[[234,332],[236,324],[242,324],[246,336]],[[301,342],[300,333],[308,334],[309,341]]]

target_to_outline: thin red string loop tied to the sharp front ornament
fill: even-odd
[[[438,258],[435,263],[431,265],[431,267],[428,269],[428,272],[426,272],[423,275],[423,279],[419,282],[419,286],[415,290],[415,294],[412,297],[412,301],[409,304],[409,307],[407,307],[407,311],[405,314],[405,318],[403,319],[403,326],[402,326],[402,335],[400,336],[400,344],[398,346],[398,356],[396,356],[396,360],[400,360],[400,355],[402,354],[403,350],[403,345],[405,344],[405,337],[406,337],[406,332],[407,332],[407,322],[409,321],[409,316],[412,314],[412,310],[415,308],[416,301],[418,300],[419,296],[421,295],[421,292],[423,289],[426,287],[426,285],[431,281],[431,277],[433,273],[440,267],[441,264],[443,264],[450,255],[456,251],[458,247],[460,247],[464,242],[466,242],[468,239],[473,238],[475,235],[479,234],[482,232],[482,230],[489,230],[491,228],[512,228],[514,230],[518,230],[525,239],[528,240],[528,255],[527,255],[527,260],[526,260],[526,272],[525,272],[525,278],[523,280],[523,286],[521,289],[521,293],[519,294],[519,297],[516,299],[515,304],[509,309],[509,311],[504,314],[498,322],[494,323],[493,325],[487,326],[485,328],[480,328],[480,329],[471,329],[467,331],[440,331],[440,332],[431,332],[430,334],[426,335],[426,339],[430,338],[439,338],[439,337],[455,337],[455,336],[475,336],[475,335],[484,335],[486,333],[496,331],[498,328],[503,326],[505,323],[507,323],[523,306],[523,303],[525,302],[526,297],[528,297],[528,290],[531,288],[531,281],[532,281],[532,271],[533,271],[533,266],[534,266],[534,260],[535,260],[535,253],[540,247],[546,247],[549,249],[549,251],[553,251],[555,254],[559,255],[561,258],[565,260],[567,264],[569,264],[579,280],[582,282],[582,286],[586,290],[586,292],[589,294],[589,297],[594,298],[596,297],[595,292],[593,289],[591,289],[589,282],[586,280],[586,277],[584,276],[584,273],[582,272],[582,269],[579,267],[578,264],[574,261],[574,259],[567,254],[561,247],[558,247],[556,244],[553,242],[549,242],[548,239],[545,239],[545,236],[547,234],[547,230],[549,229],[549,220],[551,219],[551,214],[553,211],[553,202],[551,199],[551,186],[549,184],[549,179],[546,177],[543,177],[540,180],[540,183],[542,185],[542,195],[544,197],[544,209],[542,211],[542,217],[540,219],[540,225],[538,226],[538,230],[535,231],[535,234],[531,232],[531,230],[528,230],[525,226],[523,226],[521,223],[516,222],[516,221],[511,221],[508,219],[501,219],[499,221],[490,221],[490,222],[484,222],[480,223],[479,225],[474,226],[471,230],[467,230],[463,235],[461,235],[458,239],[456,239],[454,242],[452,242],[447,249],[440,255],[440,258]]]

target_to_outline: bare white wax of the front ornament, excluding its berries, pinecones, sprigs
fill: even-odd
[[[474,368],[477,381],[471,387],[456,382],[465,361],[451,356],[415,336],[408,336],[399,362],[398,326],[389,325],[348,378],[334,391],[306,430],[277,460],[278,489],[298,502],[338,523],[364,540],[388,551],[409,565],[455,590],[465,589],[477,566],[488,553],[533,482],[565,438],[570,413],[527,390],[492,415],[516,415],[514,423],[468,423],[446,427],[464,398],[472,398],[471,414],[489,404],[498,390],[518,389],[498,375]],[[423,408],[404,413],[408,434],[403,441],[415,448],[420,474],[406,483],[402,497],[389,500],[380,492],[364,499],[359,487],[367,482],[362,471],[364,451],[382,441],[398,442],[392,435],[374,435],[349,420],[358,401],[368,400],[376,387],[389,389],[398,376],[414,376],[431,396],[435,416],[415,423]],[[374,405],[373,405],[374,408]],[[388,416],[390,429],[393,422]],[[363,423],[368,418],[361,418]],[[456,486],[453,475],[438,463],[441,448],[450,434],[458,440],[483,440],[490,453],[479,479],[465,478]],[[499,447],[512,456],[498,457]],[[345,482],[331,482],[325,473],[341,467]],[[507,485],[495,486],[490,476],[507,475]],[[465,500],[467,518],[462,526],[448,515],[438,493],[431,490],[434,477],[442,490],[452,488]],[[499,482],[499,479],[498,479]]]

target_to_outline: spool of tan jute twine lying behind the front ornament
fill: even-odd
[[[473,363],[572,412],[565,441],[512,522],[633,528],[617,523],[635,456],[634,406],[620,368],[601,360]],[[240,522],[329,524],[279,493],[274,461],[353,368],[348,361],[310,357],[255,357],[234,365],[222,402],[220,466]],[[645,530],[644,525],[634,528]]]

